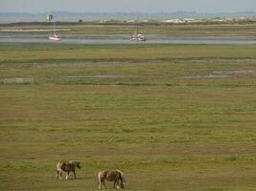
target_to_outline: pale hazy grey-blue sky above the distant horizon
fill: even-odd
[[[256,0],[0,0],[0,11],[256,11]]]

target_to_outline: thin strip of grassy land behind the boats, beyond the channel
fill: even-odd
[[[52,24],[21,23],[19,25],[0,25],[2,30],[52,30]],[[135,32],[134,24],[107,25],[107,24],[68,24],[58,23],[57,30],[62,37],[88,37],[88,36],[129,36]],[[139,32],[149,35],[166,36],[247,36],[256,35],[256,24],[201,24],[201,25],[168,25],[168,24],[141,24]],[[26,32],[28,33],[28,32]],[[45,32],[32,32],[45,34]]]

